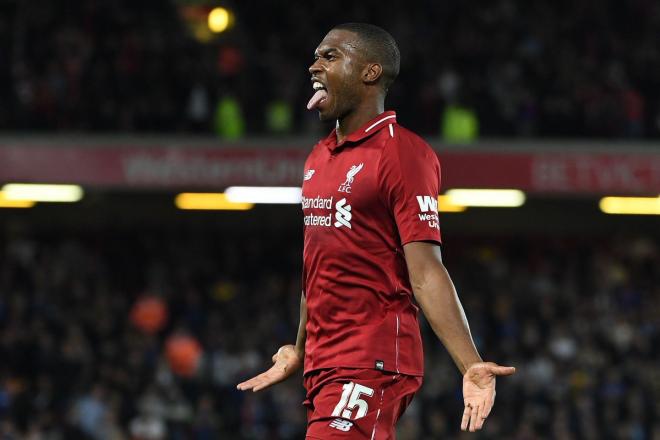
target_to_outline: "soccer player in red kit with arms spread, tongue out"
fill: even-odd
[[[298,337],[238,389],[262,390],[304,365],[308,439],[393,439],[422,383],[418,304],[463,374],[461,429],[481,429],[495,377],[515,369],[482,361],[442,263],[436,154],[384,111],[396,42],[377,26],[342,24],[309,72],[307,107],[336,128],[305,164]]]

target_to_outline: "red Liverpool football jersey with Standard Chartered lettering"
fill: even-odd
[[[333,130],[305,163],[305,373],[352,367],[422,375],[403,245],[440,243],[440,163],[394,112],[336,139]]]

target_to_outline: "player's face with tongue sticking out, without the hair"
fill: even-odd
[[[310,104],[319,111],[322,121],[341,118],[357,107],[364,86],[361,73],[365,64],[357,36],[350,31],[332,30],[316,48],[314,57],[309,68],[312,86],[327,93],[317,91]]]

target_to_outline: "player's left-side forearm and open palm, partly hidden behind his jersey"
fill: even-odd
[[[283,345],[273,355],[273,366],[252,379],[241,382],[236,388],[241,391],[260,391],[291,377],[303,365],[305,358],[305,326],[307,325],[307,301],[300,295],[300,322],[296,345]]]

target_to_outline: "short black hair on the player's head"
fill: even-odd
[[[385,29],[369,23],[344,23],[334,29],[353,32],[374,61],[383,66],[383,89],[387,91],[399,75],[401,54],[394,37]]]

